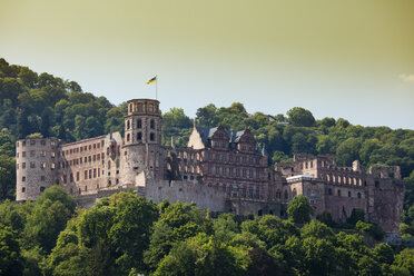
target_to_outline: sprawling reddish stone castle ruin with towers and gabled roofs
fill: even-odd
[[[187,147],[161,146],[159,101],[128,101],[125,135],[114,132],[63,144],[28,138],[16,144],[17,197],[34,200],[51,185],[65,187],[79,205],[134,189],[157,203],[196,201],[213,211],[286,217],[295,195],[309,198],[315,214],[327,210],[345,221],[354,208],[387,233],[398,230],[404,185],[400,167],[354,161],[338,167],[335,157],[295,155],[289,164],[268,166],[268,156],[248,129],[194,126]]]

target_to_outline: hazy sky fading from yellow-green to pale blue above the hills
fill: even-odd
[[[414,129],[413,0],[0,0],[0,57],[112,103]]]

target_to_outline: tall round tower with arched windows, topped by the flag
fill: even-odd
[[[135,184],[136,176],[142,171],[148,177],[162,178],[161,125],[158,100],[128,101],[121,161],[125,174],[121,183]]]

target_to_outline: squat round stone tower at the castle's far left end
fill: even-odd
[[[16,200],[34,200],[55,184],[58,145],[50,138],[16,142]]]

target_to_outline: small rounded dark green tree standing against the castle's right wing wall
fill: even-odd
[[[306,196],[297,195],[287,205],[287,214],[296,224],[305,224],[310,221],[310,216],[314,215],[314,208],[310,206]]]

